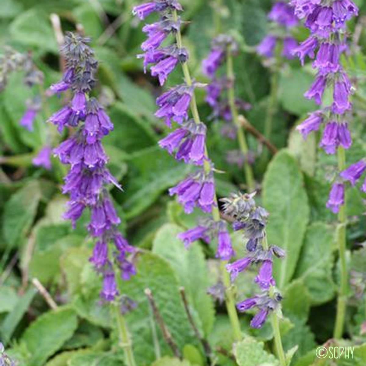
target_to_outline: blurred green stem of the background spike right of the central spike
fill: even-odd
[[[248,146],[243,130],[243,126],[240,124],[238,119],[238,109],[235,105],[235,90],[234,90],[234,67],[232,62],[232,54],[230,50],[230,45],[228,45],[226,50],[226,76],[229,82],[228,87],[228,101],[230,106],[230,111],[232,115],[232,119],[234,121],[234,124],[236,128],[238,129],[237,135],[238,135],[238,142],[241,152],[244,155],[244,171],[245,171],[245,178],[248,186],[249,192],[253,192],[255,190],[255,182],[253,177],[253,171],[248,163]]]

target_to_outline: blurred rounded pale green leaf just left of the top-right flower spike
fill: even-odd
[[[286,68],[285,72],[280,74],[279,99],[283,108],[298,116],[317,109],[314,101],[304,97],[313,79],[314,76],[303,69]]]

